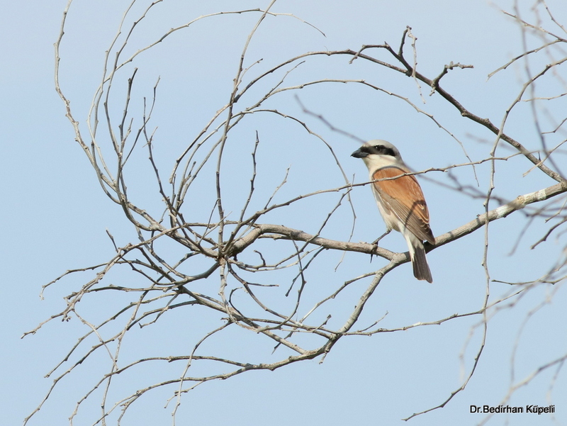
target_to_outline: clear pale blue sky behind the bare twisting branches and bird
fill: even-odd
[[[123,214],[103,194],[96,176],[76,142],[72,127],[64,117],[64,106],[54,89],[53,43],[60,29],[66,1],[51,0],[4,2],[0,15],[0,51],[4,57],[0,66],[0,149],[1,194],[4,198],[1,215],[5,225],[2,238],[2,269],[4,270],[4,309],[0,337],[4,350],[0,385],[0,409],[6,425],[21,424],[23,418],[40,403],[52,379],[43,376],[64,354],[67,354],[84,328],[74,318],[68,323],[59,320],[48,324],[37,335],[21,340],[23,332],[64,307],[63,296],[84,283],[80,277],[51,286],[40,301],[41,286],[67,269],[86,267],[111,257],[113,247],[109,230],[125,245],[135,240],[130,224]],[[89,2],[75,0],[68,17],[68,27],[62,45],[62,88],[72,100],[77,120],[82,124],[101,78],[103,52],[116,33],[125,1]],[[157,34],[182,25],[197,16],[213,11],[264,7],[267,1],[208,1],[203,5],[188,5],[184,1],[164,1],[155,9],[145,30],[133,38],[134,46],[142,46]],[[532,2],[522,1],[522,3]],[[558,20],[567,24],[567,13],[561,1],[549,2]],[[254,38],[247,56],[247,65],[263,58],[252,70],[259,72],[302,52],[315,50],[358,49],[363,44],[391,43],[397,50],[406,26],[417,36],[418,67],[423,74],[434,77],[449,62],[474,65],[473,69],[449,72],[442,85],[471,111],[500,123],[505,108],[512,103],[522,82],[522,68],[510,67],[487,81],[488,73],[523,52],[520,30],[498,9],[511,10],[509,2],[495,6],[485,1],[288,1],[281,0],[274,11],[294,13],[320,28],[317,30],[284,16],[268,17]],[[524,12],[529,16],[526,8]],[[140,8],[141,10],[141,8]],[[137,16],[138,13],[134,13]],[[157,145],[164,170],[171,170],[170,160],[180,147],[187,145],[206,120],[228,100],[232,78],[237,69],[242,46],[257,14],[220,16],[196,23],[184,32],[172,35],[147,55],[140,55],[135,66],[135,95],[151,96],[152,86],[160,77],[154,125],[158,127]],[[534,43],[529,40],[528,43]],[[534,47],[534,45],[530,45]],[[133,47],[134,49],[134,47]],[[385,53],[373,52],[381,59]],[[546,58],[542,59],[545,62]],[[434,113],[451,133],[464,143],[473,160],[486,157],[493,141],[487,131],[461,118],[438,96],[429,96],[422,85],[426,103],[417,96],[415,84],[380,67],[361,61],[347,64],[344,58],[312,60],[291,74],[288,84],[320,78],[365,79],[384,89],[408,96],[423,110]],[[537,65],[537,63],[536,63]],[[252,71],[251,71],[252,72]],[[120,84],[125,76],[120,77]],[[281,76],[280,76],[281,77]],[[278,77],[274,77],[274,82]],[[542,83],[545,91],[547,86]],[[561,89],[549,86],[557,94]],[[563,88],[563,91],[564,88]],[[258,92],[259,93],[259,92]],[[362,139],[381,138],[398,146],[405,161],[414,169],[446,167],[466,162],[459,144],[424,115],[417,114],[407,103],[386,94],[376,94],[357,86],[336,84],[312,86],[296,91],[307,108],[321,114],[337,128]],[[117,95],[118,96],[118,95]],[[254,93],[251,94],[251,99]],[[549,94],[548,94],[549,96]],[[330,142],[344,170],[354,181],[366,180],[366,168],[349,157],[357,142],[332,132],[323,123],[301,112],[293,94],[284,94],[274,107],[283,113],[293,113],[310,120],[313,130]],[[243,99],[247,101],[247,99]],[[121,113],[117,99],[116,111]],[[140,108],[140,103],[134,108]],[[537,150],[534,125],[529,108],[520,105],[510,118],[510,133]],[[290,128],[271,116],[255,114],[242,125],[241,145],[230,145],[234,158],[248,161],[254,132],[262,140],[259,150],[259,176],[262,194],[271,194],[290,167],[288,184],[279,201],[294,194],[328,189],[344,183],[333,170],[329,179],[329,158],[322,153],[322,144],[308,137],[300,128]],[[564,136],[563,136],[564,138]],[[490,143],[481,144],[478,140]],[[252,142],[252,145],[251,145]],[[507,154],[502,150],[501,155]],[[142,164],[142,156],[140,164]],[[235,160],[236,162],[237,160]],[[137,163],[136,163],[137,164]],[[145,163],[144,163],[145,164]],[[131,194],[142,203],[155,206],[159,194],[148,191],[147,164],[132,170],[138,176]],[[501,169],[500,169],[501,167]],[[237,164],[227,164],[227,188],[234,190],[249,175],[237,176]],[[520,157],[498,165],[495,194],[511,200],[520,194],[550,186],[554,182],[532,172],[522,178],[529,165]],[[565,172],[563,170],[562,172]],[[487,164],[477,167],[479,189],[488,189]],[[471,169],[455,172],[460,179],[473,184]],[[428,174],[432,179],[450,184],[447,174]],[[331,181],[330,181],[331,180]],[[432,181],[421,180],[430,206],[435,235],[448,232],[476,215],[483,213],[482,200],[471,200],[456,191],[444,189]],[[210,211],[209,194],[198,194],[203,203],[195,206],[196,215]],[[383,232],[383,223],[368,188],[352,192],[357,211],[353,241],[371,241]],[[318,211],[321,203],[334,206],[337,196],[305,201],[289,211],[274,213],[273,223],[315,232],[326,211]],[[208,203],[208,204],[207,204]],[[228,210],[240,206],[238,198],[227,198]],[[325,206],[327,206],[325,204]],[[495,203],[493,207],[497,206]],[[301,209],[304,209],[303,211]],[[337,213],[325,232],[325,237],[346,240],[349,237],[349,208]],[[313,213],[314,212],[314,213]],[[237,214],[237,213],[235,213]],[[206,221],[206,220],[205,220]],[[493,279],[527,281],[544,274],[556,262],[562,240],[551,239],[537,250],[529,250],[547,229],[541,220],[525,233],[520,247],[510,255],[517,232],[525,224],[524,216],[515,213],[506,220],[490,225],[490,273]],[[466,313],[481,308],[485,296],[483,230],[439,247],[428,254],[434,284],[413,279],[409,264],[395,269],[379,286],[361,323],[371,324],[388,313],[383,327],[399,327],[417,322],[444,318],[453,313]],[[392,233],[381,242],[383,247],[403,251],[405,243]],[[313,297],[329,293],[330,286],[383,266],[383,259],[369,263],[367,256],[347,255],[335,273],[340,255],[330,257],[332,267],[311,276],[309,285]],[[113,277],[126,279],[121,274]],[[368,281],[369,282],[369,281]],[[366,283],[366,281],[365,281]],[[348,297],[335,303],[354,303],[366,284],[352,288]],[[286,287],[287,284],[283,284]],[[443,409],[415,417],[410,422],[400,419],[417,411],[442,403],[461,385],[459,356],[467,342],[471,327],[480,317],[451,320],[434,327],[416,327],[405,332],[384,333],[373,337],[350,337],[333,348],[322,364],[319,359],[307,361],[274,372],[250,372],[227,381],[205,383],[184,397],[177,415],[178,425],[289,425],[312,423],[327,425],[476,425],[483,415],[469,413],[470,405],[498,405],[510,384],[510,357],[518,330],[527,313],[546,299],[551,291],[553,303],[539,310],[526,325],[515,359],[517,378],[529,375],[542,364],[567,352],[565,309],[566,292],[561,284],[554,288],[532,290],[513,308],[499,311],[490,320],[488,337],[481,362],[465,391],[459,393]],[[510,291],[505,284],[492,284],[494,298]],[[307,297],[307,296],[306,296]],[[308,296],[311,297],[311,296]],[[118,306],[111,294],[84,303],[85,315],[96,323],[104,318],[107,308]],[[314,299],[315,300],[315,299]],[[338,306],[340,314],[348,306]],[[344,311],[344,312],[343,312]],[[191,313],[191,315],[194,315]],[[191,337],[201,331],[203,318],[177,312],[163,318],[160,330],[147,335],[133,333],[125,349],[126,359],[135,357],[137,349],[159,352],[161,345],[172,345],[176,352],[191,350]],[[108,316],[108,315],[107,315]],[[169,322],[169,323],[168,323]],[[335,324],[336,325],[336,324]],[[466,371],[478,350],[480,329],[476,329],[464,352]],[[230,337],[230,336],[227,336]],[[256,336],[257,337],[257,336]],[[91,342],[92,343],[92,342]],[[89,343],[89,344],[91,344]],[[275,361],[271,342],[242,337],[242,341],[215,340],[210,350],[249,356],[253,361]],[[88,345],[87,345],[88,347]],[[157,366],[140,371],[142,376],[116,381],[116,398],[128,386],[147,386],[145,379],[163,379],[168,372]],[[55,388],[50,400],[29,425],[64,425],[79,398],[108,369],[108,360],[101,354],[84,363]],[[529,386],[517,391],[511,405],[556,405],[556,417],[549,415],[495,415],[487,425],[554,425],[567,422],[567,380],[561,371],[551,396],[548,395],[554,371],[546,371]],[[122,379],[119,377],[118,379]],[[172,406],[163,408],[171,392],[157,391],[133,405],[123,425],[169,425]],[[76,425],[91,425],[99,414],[99,396],[95,396],[75,420]],[[112,399],[115,400],[115,399]],[[110,422],[109,424],[113,424]]]

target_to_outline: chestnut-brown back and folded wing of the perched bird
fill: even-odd
[[[430,228],[430,213],[427,210],[420,184],[413,175],[403,176],[405,173],[408,172],[397,166],[376,170],[372,174],[375,180],[374,189],[383,203],[405,224],[408,230],[421,240],[435,244]],[[400,177],[391,179],[395,176]]]

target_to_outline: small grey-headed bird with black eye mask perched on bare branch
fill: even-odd
[[[364,143],[351,156],[361,158],[368,167],[372,192],[386,223],[386,234],[391,230],[401,232],[408,243],[413,275],[432,283],[423,247],[424,241],[435,244],[430,213],[415,175],[407,174],[411,170],[403,162],[400,151],[390,142],[376,139]]]

